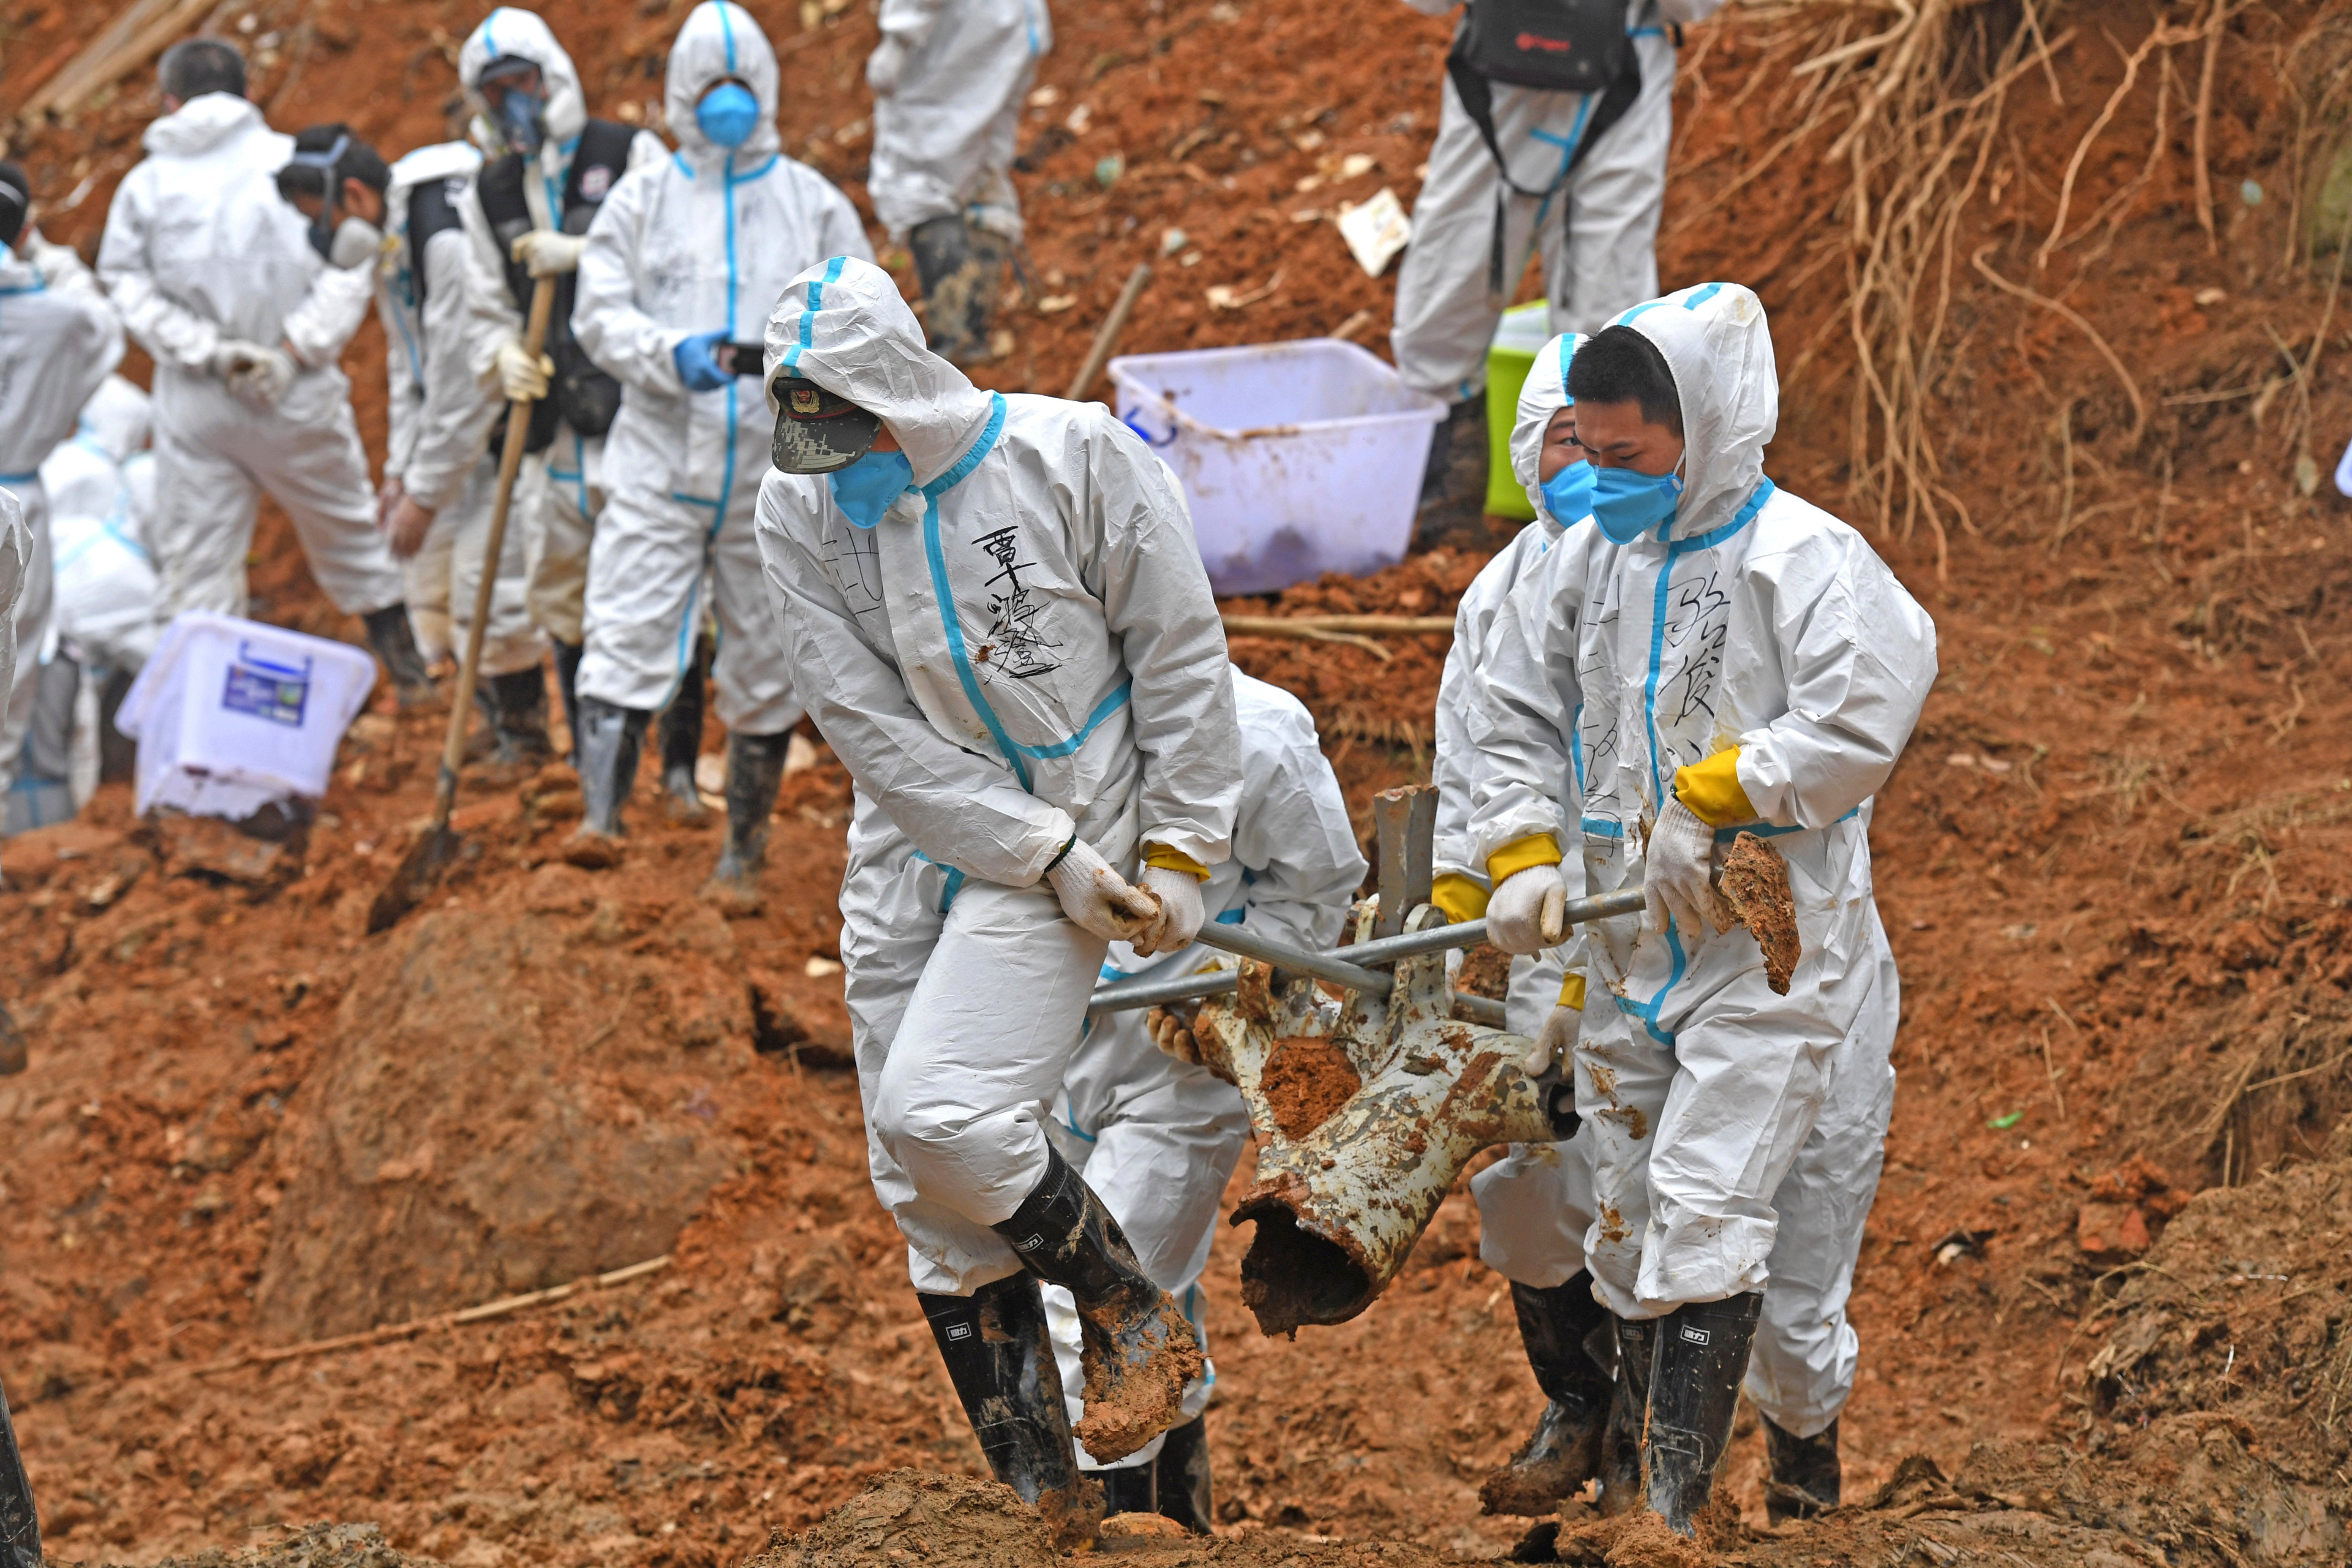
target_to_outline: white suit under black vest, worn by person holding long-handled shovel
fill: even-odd
[[[588,99],[572,56],[555,42],[555,33],[548,31],[539,12],[501,5],[466,35],[456,54],[459,85],[475,108],[475,129],[485,136],[492,155],[501,155],[506,148],[496,141],[492,118],[482,108],[482,68],[506,56],[539,66],[548,94],[548,139],[522,181],[522,200],[532,209],[532,228],[562,228],[564,181],[572,179],[572,153],[588,125]],[[628,146],[628,167],[642,169],[668,155],[670,148],[661,146],[661,136],[637,132]],[[494,388],[499,346],[522,339],[524,317],[522,306],[506,287],[506,249],[489,233],[482,202],[468,197],[461,216],[466,219],[468,247],[466,303],[475,313],[473,374]],[[576,315],[579,310],[574,310]],[[536,510],[527,529],[532,623],[550,637],[576,644],[581,639],[581,599],[588,590],[588,541],[595,536],[597,512],[604,510],[604,437],[581,435],[557,421],[555,442],[527,458],[524,468],[539,468],[543,480],[543,484],[532,484]]]

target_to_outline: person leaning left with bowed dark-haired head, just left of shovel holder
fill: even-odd
[[[315,226],[379,237],[365,263],[383,322],[390,425],[376,508],[407,581],[419,644],[433,656],[456,656],[473,628],[499,496],[499,461],[487,442],[506,404],[473,376],[475,315],[459,219],[480,167],[480,150],[466,141],[423,146],[386,167],[348,125],[315,125],[294,139],[294,162],[278,176],[280,193]],[[510,508],[473,689],[485,743],[508,769],[555,755],[541,668],[548,644],[524,604],[527,501],[517,491]]]

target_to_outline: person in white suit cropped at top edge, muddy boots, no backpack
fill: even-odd
[[[915,254],[931,350],[957,364],[988,357],[988,315],[1021,244],[1021,101],[1051,47],[1044,0],[882,0],[866,190],[891,244]]]

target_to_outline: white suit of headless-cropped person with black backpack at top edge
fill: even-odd
[[[1404,0],[1442,16],[1456,0]],[[1486,386],[1486,348],[1519,287],[1526,252],[1543,256],[1552,331],[1599,331],[1618,310],[1658,292],[1658,212],[1675,136],[1675,40],[1670,26],[1715,14],[1722,0],[1630,0],[1625,33],[1642,94],[1569,172],[1602,94],[1494,85],[1494,134],[1510,160],[1503,188],[1486,139],[1442,78],[1437,141],[1414,197],[1414,242],[1397,270],[1390,348],[1397,374],[1423,393],[1461,402]],[[1494,270],[1496,193],[1503,193],[1503,280]]]

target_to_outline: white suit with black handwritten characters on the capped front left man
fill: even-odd
[[[854,835],[842,959],[915,1288],[967,1295],[1018,1272],[990,1225],[1044,1175],[1047,1103],[1108,947],[1063,917],[1047,865],[1073,832],[1127,877],[1143,844],[1230,856],[1225,637],[1174,475],[1101,404],[974,388],[889,275],[847,256],[793,280],[767,350],[771,376],[795,364],[880,414],[913,465],[873,529],[826,477],[769,473],[760,555],[793,689],[863,797],[960,877],[936,926],[894,905],[868,924],[873,832]]]

